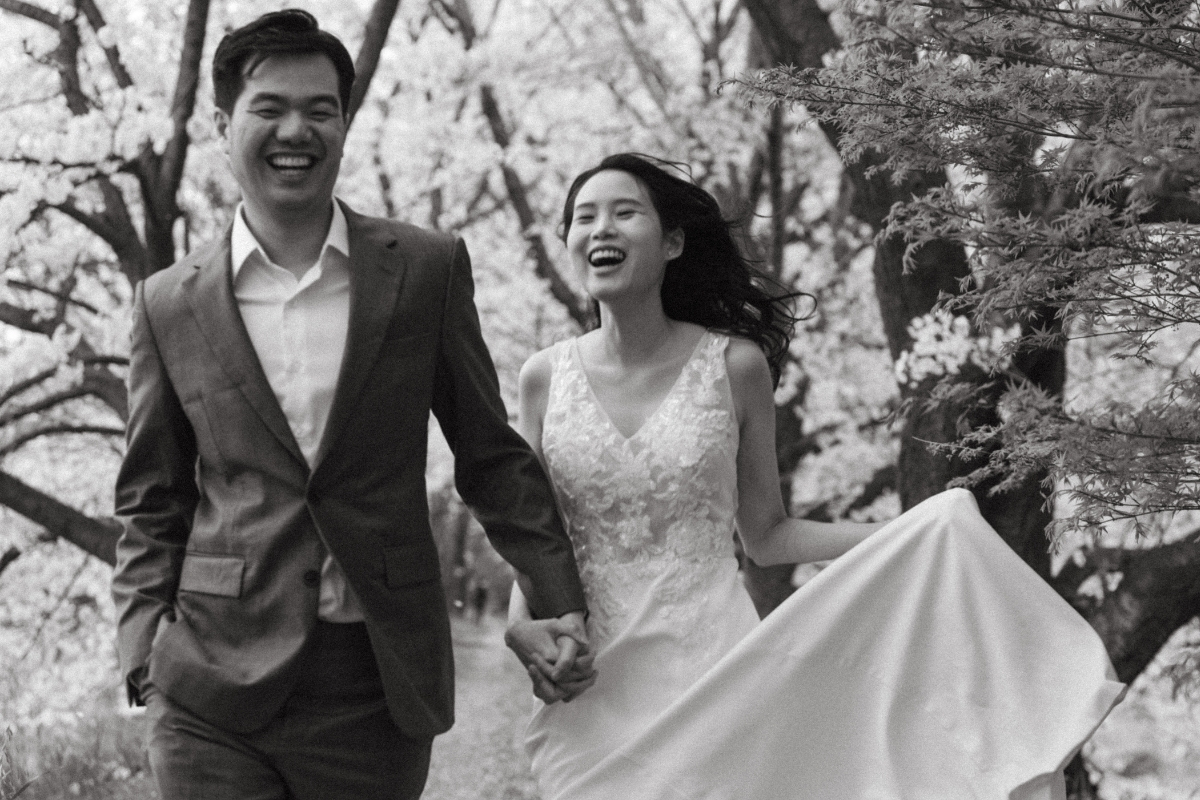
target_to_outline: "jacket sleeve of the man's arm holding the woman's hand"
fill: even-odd
[[[455,486],[496,551],[533,588],[535,616],[584,610],[571,548],[554,495],[524,439],[509,425],[496,367],[475,311],[470,258],[461,239],[451,255],[433,414],[455,457]]]

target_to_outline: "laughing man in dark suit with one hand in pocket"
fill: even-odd
[[[242,203],[134,293],[122,672],[164,800],[416,798],[454,717],[430,411],[547,640],[586,648],[574,554],[508,426],[463,243],[334,200],[346,48],[282,11],[212,73]]]

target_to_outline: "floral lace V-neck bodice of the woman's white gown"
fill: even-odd
[[[697,593],[736,569],[738,428],[727,344],[706,331],[629,438],[593,393],[577,339],[557,345],[541,445],[601,648],[635,606],[646,606],[648,591],[680,636],[695,633]]]

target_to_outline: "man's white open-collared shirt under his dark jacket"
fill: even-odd
[[[271,263],[246,224],[241,205],[234,215],[229,254],[233,294],[250,342],[312,467],[334,404],[350,321],[346,215],[335,201],[320,255],[300,278]],[[362,620],[358,599],[329,554],[320,570],[317,615],[330,622]]]

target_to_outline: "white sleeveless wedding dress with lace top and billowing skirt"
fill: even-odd
[[[629,438],[576,342],[553,354],[541,444],[598,679],[536,702],[542,800],[1051,798],[1124,687],[970,492],[910,510],[758,621],[733,553],[727,342],[706,332]]]

